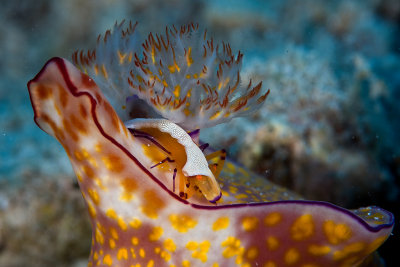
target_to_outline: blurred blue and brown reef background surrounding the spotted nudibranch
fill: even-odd
[[[378,251],[400,266],[399,1],[22,0],[0,15],[0,266],[87,264],[83,198],[66,153],[33,121],[26,83],[123,19],[143,38],[198,22],[244,53],[243,83],[271,93],[201,139],[306,199],[393,212]]]

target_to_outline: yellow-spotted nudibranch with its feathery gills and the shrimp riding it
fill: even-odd
[[[358,266],[386,240],[390,212],[302,200],[204,156],[185,130],[249,114],[269,91],[242,87],[242,54],[221,52],[197,25],[150,34],[143,55],[135,27],[116,24],[74,54],[94,80],[53,58],[28,83],[35,122],[63,145],[87,204],[89,266]],[[124,124],[132,95],[168,120]]]

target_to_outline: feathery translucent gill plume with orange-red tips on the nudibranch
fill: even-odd
[[[143,54],[136,24],[127,29],[123,24],[99,36],[94,50],[73,55],[73,62],[116,100],[122,118],[127,117],[125,100],[136,95],[182,128],[201,129],[251,114],[269,94],[261,82],[243,86],[243,54],[239,51],[235,57],[227,43],[214,45],[197,24],[166,28],[164,36],[150,34],[142,44]]]

